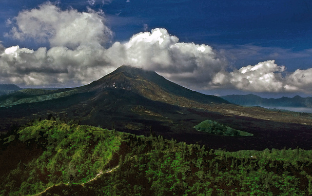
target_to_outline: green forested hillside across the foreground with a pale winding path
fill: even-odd
[[[1,195],[310,195],[312,151],[227,152],[59,119],[0,139]]]

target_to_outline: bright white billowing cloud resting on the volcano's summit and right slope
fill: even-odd
[[[207,83],[226,67],[226,61],[218,59],[212,47],[178,40],[166,29],[138,33],[124,44],[114,43],[107,51],[107,59],[117,65],[153,70],[188,86]],[[110,58],[114,54],[118,54],[118,58]]]

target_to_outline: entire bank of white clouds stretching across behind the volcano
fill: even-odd
[[[93,3],[90,1],[89,3]],[[20,86],[78,86],[127,64],[154,70],[192,89],[312,93],[312,69],[287,72],[274,60],[231,70],[211,46],[179,42],[166,29],[153,29],[112,43],[103,12],[61,10],[53,3],[23,10],[7,37],[48,43],[37,50],[0,45],[0,82]]]

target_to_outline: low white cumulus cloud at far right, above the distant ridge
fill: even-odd
[[[211,85],[251,92],[312,92],[312,69],[285,73],[285,66],[274,60],[248,65],[233,72],[219,72]]]

